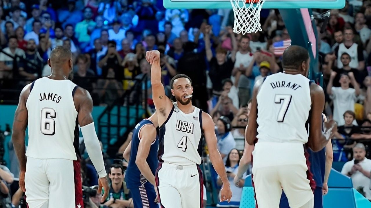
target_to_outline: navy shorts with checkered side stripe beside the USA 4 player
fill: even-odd
[[[134,207],[158,208],[158,204],[155,203],[156,192],[150,182],[147,181],[140,187],[131,188],[130,191]]]

